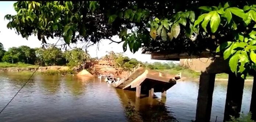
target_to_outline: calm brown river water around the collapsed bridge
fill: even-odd
[[[0,109],[26,82],[30,74],[0,72]],[[135,99],[135,92],[115,89],[98,79],[76,76],[34,75],[0,114],[0,122],[191,122],[198,96],[196,81],[178,81],[153,102]],[[214,87],[211,121],[223,120],[227,81]],[[252,81],[245,83],[242,111],[249,112]]]

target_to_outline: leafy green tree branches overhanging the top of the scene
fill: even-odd
[[[256,69],[256,1],[18,1],[8,28],[28,38],[63,37],[65,42],[119,35],[131,52],[223,55],[246,77]],[[113,41],[115,42],[115,41]],[[120,42],[117,42],[120,43]]]

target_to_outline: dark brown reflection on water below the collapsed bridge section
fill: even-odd
[[[134,91],[115,89],[130,122],[178,122],[165,103],[148,97],[136,98]]]

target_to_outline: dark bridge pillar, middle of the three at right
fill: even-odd
[[[244,79],[234,73],[228,75],[224,121],[229,121],[230,115],[236,118],[240,116],[244,82]]]

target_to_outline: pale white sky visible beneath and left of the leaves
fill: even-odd
[[[14,30],[8,29],[6,27],[8,21],[4,20],[4,16],[7,14],[17,14],[13,8],[13,3],[15,1],[0,1],[0,42],[4,45],[5,50],[8,50],[10,47],[18,47],[21,45],[26,45],[31,48],[35,47],[42,47],[41,41],[38,40],[38,38],[34,35],[30,36],[28,40],[25,38],[22,38],[21,35],[18,35],[15,33]],[[118,36],[115,36],[112,38],[114,41],[121,41],[121,39]],[[48,43],[56,43],[57,39],[50,39],[47,41]],[[110,52],[111,50],[115,53],[123,52],[122,44],[117,43],[111,43],[111,41],[107,39],[102,39],[99,42],[99,45],[93,45],[87,48],[88,53],[91,57],[102,57],[106,55],[107,52]],[[60,42],[63,43],[63,42]],[[59,44],[60,44],[59,43]],[[57,44],[58,45],[58,44]],[[77,43],[72,44],[71,47],[81,47],[84,45],[84,43]],[[97,48],[98,47],[98,48]],[[129,47],[128,47],[129,48]],[[124,53],[129,58],[136,58],[139,61],[142,62],[167,62],[165,60],[151,60],[150,54],[142,54],[142,50],[139,49],[138,52],[133,54],[132,52],[127,49],[127,51]]]

